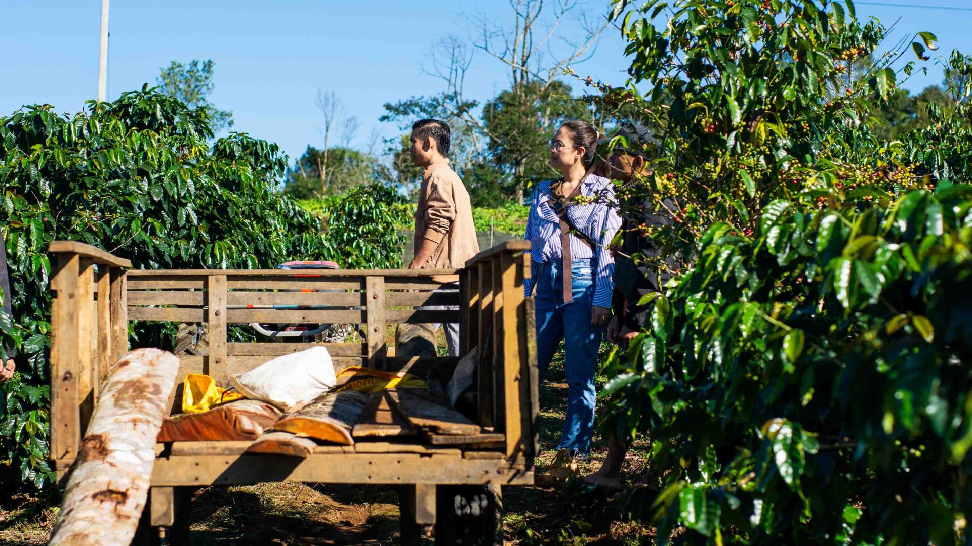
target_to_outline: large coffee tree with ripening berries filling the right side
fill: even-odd
[[[657,491],[627,509],[659,543],[967,541],[968,85],[881,142],[863,121],[930,33],[879,55],[885,28],[851,1],[615,0],[610,17],[631,79],[592,85],[657,139],[621,206],[667,212],[642,231],[684,258],[605,370],[605,431],[654,440]],[[947,68],[972,73],[960,53]]]

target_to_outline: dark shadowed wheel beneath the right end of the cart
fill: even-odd
[[[438,486],[435,498],[436,545],[502,546],[500,486]]]

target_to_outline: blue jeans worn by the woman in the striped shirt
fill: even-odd
[[[564,340],[567,376],[567,418],[558,450],[569,449],[578,455],[591,452],[594,433],[594,369],[605,326],[591,324],[591,301],[597,261],[574,259],[571,262],[573,303],[564,303],[564,275],[560,262],[533,263],[537,287],[537,363],[540,383],[546,377],[550,359]]]

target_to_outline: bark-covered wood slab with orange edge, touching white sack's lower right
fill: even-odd
[[[338,445],[355,443],[351,429],[358,423],[367,394],[358,391],[329,392],[280,419],[273,430],[290,432]]]

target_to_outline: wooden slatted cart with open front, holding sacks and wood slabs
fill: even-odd
[[[365,365],[420,377],[432,370],[451,373],[458,358],[396,357],[386,329],[399,323],[458,322],[462,354],[475,348],[481,357],[472,387],[475,409],[467,416],[479,427],[475,434],[412,430],[408,435],[356,437],[351,446],[315,445],[305,458],[246,453],[247,441],[156,444],[150,500],[137,541],[152,543],[166,533],[170,544],[185,541],[191,493],[200,487],[290,480],[396,486],[403,543],[417,543],[434,526],[440,543],[502,544],[501,488],[532,485],[538,452],[534,310],[533,300],[523,293],[524,278],[530,275],[526,242],[510,241],[484,251],[465,269],[312,274],[135,270],[128,260],[72,241],[53,242],[50,252],[56,258],[51,281],[51,455],[59,479],[78,457],[109,365],[128,351],[131,322],[205,326],[208,355],[181,357],[172,399],[176,412],[188,372],[206,373],[227,386],[231,374],[310,347],[235,343],[227,339],[227,324],[363,324],[363,342],[322,344],[338,371]],[[458,292],[435,291],[454,289],[450,283],[457,281]],[[266,309],[267,304],[313,308]],[[428,305],[458,310],[417,309]]]

